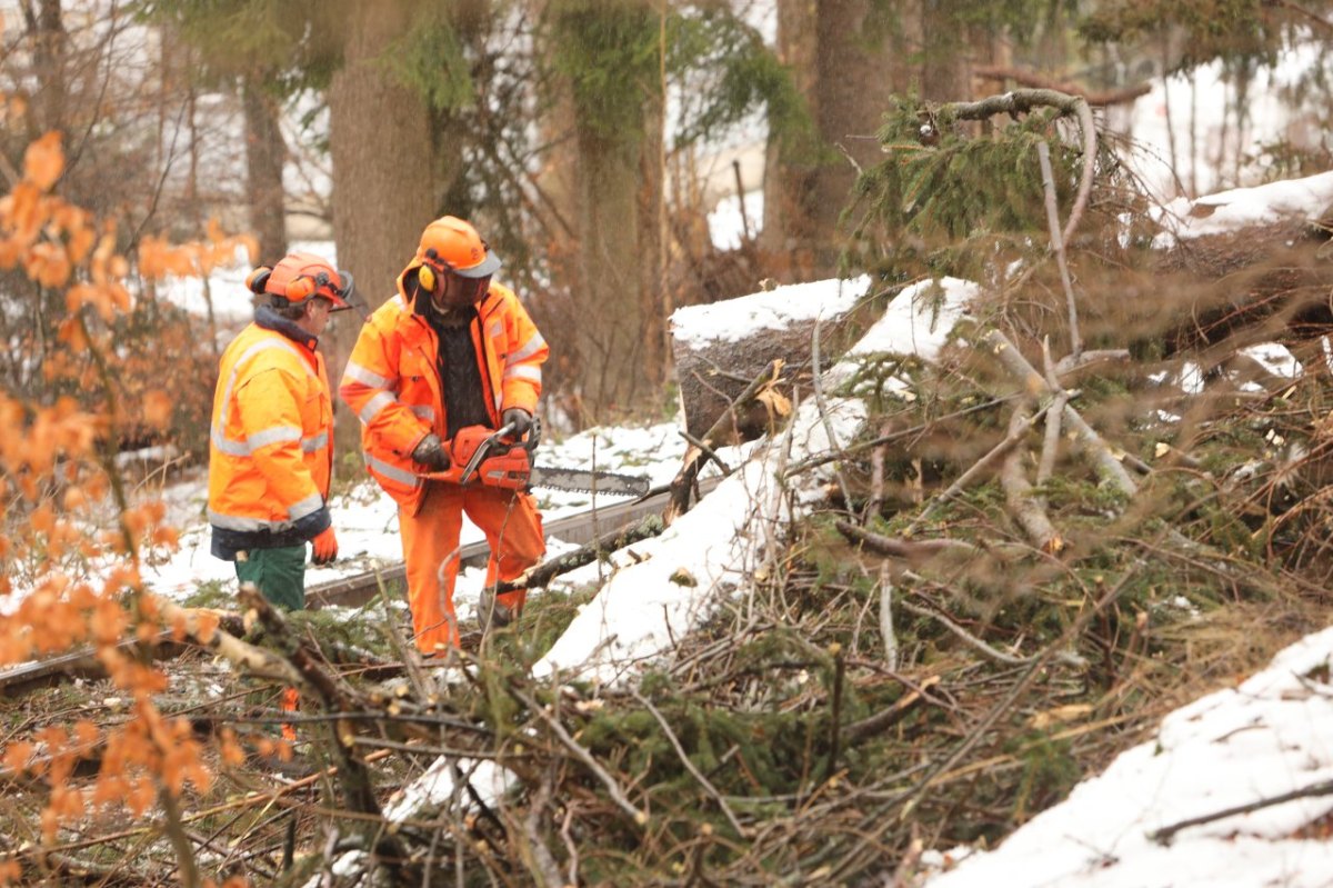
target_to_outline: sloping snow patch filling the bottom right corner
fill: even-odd
[[[1157,829],[1333,780],[1333,629],[1286,648],[1244,684],[1162,720],[1061,804],[929,888],[1333,884],[1333,843],[1300,829],[1333,811],[1330,787],[1154,841]],[[940,855],[929,857],[936,865]]]

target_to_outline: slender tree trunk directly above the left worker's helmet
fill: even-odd
[[[287,143],[277,125],[281,104],[264,91],[263,75],[249,72],[241,79],[241,105],[245,112],[245,203],[249,224],[259,240],[260,263],[276,263],[287,253],[287,208],[283,161]]]

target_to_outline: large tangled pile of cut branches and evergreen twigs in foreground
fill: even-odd
[[[937,367],[869,363],[840,392],[870,404],[862,437],[788,469],[838,483],[780,569],[623,685],[532,677],[532,623],[577,596],[447,663],[400,615],[340,652],[253,591],[231,623],[168,607],[211,657],[173,665],[164,708],[248,757],[219,743],[175,825],[4,851],[92,884],[177,880],[180,845],[265,884],[912,884],[922,848],[1001,839],[1313,625],[1329,565],[1326,375],[1186,396],[1120,353],[1028,352],[988,325]],[[300,713],[256,709],[257,679]],[[25,729],[115,717],[96,684],[59,693]],[[36,836],[40,795],[16,784],[5,835]]]

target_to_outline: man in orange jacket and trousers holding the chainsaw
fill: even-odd
[[[467,221],[436,219],[421,233],[397,295],[361,328],[339,391],[361,419],[371,476],[397,501],[417,648],[459,644],[453,585],[463,515],[487,536],[488,589],[545,553],[541,515],[523,491],[424,477],[451,465],[459,429],[532,428],[549,349],[513,291],[492,280],[500,259]],[[483,595],[479,617],[503,625],[527,592]]]

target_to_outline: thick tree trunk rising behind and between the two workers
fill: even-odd
[[[393,295],[395,279],[437,211],[431,112],[377,64],[408,27],[408,7],[405,0],[347,4],[344,64],[329,88],[337,263],[356,277],[357,301],[371,311]],[[323,348],[337,387],[361,319],[357,312],[335,319]],[[360,424],[341,401],[336,421],[337,452],[359,451]]]

